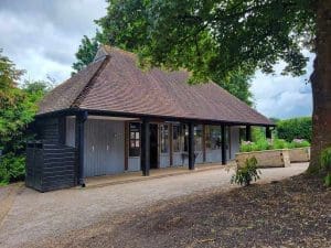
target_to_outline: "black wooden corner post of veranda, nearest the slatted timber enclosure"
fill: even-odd
[[[76,115],[76,125],[75,125],[75,144],[77,151],[77,181],[78,184],[85,187],[84,182],[84,123],[87,120],[87,111],[78,112]]]

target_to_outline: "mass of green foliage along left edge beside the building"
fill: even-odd
[[[23,71],[1,54],[0,51],[0,184],[24,177],[24,147],[30,138],[26,126],[33,120],[36,103],[49,86],[45,82],[18,82]]]

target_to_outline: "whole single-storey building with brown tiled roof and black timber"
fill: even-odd
[[[269,119],[185,71],[139,68],[135,54],[102,46],[93,63],[40,104],[26,149],[26,185],[50,191],[126,171],[217,162],[239,150],[239,130]]]

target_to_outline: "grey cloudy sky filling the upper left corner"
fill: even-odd
[[[95,19],[106,13],[105,0],[1,0],[0,47],[24,78],[57,83],[70,77],[84,34],[95,33]]]

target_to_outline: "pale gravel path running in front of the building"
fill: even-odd
[[[307,166],[308,163],[297,163],[289,168],[263,169],[260,182],[296,175],[303,172]],[[104,187],[72,188],[43,194],[23,188],[0,226],[0,247],[18,247],[28,241],[57,236],[98,223],[105,216],[138,211],[158,201],[215,187],[228,190],[234,187],[229,184],[232,174],[232,171],[216,169]]]

